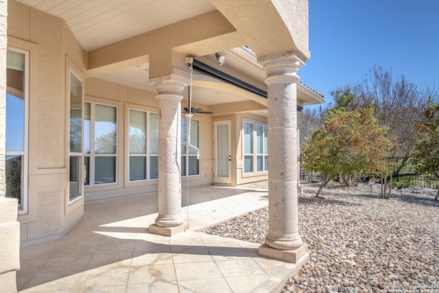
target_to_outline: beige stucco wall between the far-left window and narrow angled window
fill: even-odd
[[[24,245],[56,239],[84,214],[67,204],[69,68],[84,75],[86,54],[61,19],[8,1],[9,45],[30,54],[28,213],[19,215]]]

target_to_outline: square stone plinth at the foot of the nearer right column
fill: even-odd
[[[259,246],[259,255],[270,259],[278,259],[289,263],[305,263],[309,259],[308,244],[304,243],[299,248],[293,250],[278,250],[267,244]]]

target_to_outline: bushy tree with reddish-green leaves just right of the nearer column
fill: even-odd
[[[331,179],[389,171],[392,142],[385,137],[388,128],[378,125],[373,108],[346,111],[334,107],[325,118],[324,124],[302,143],[302,166],[310,172],[322,172],[316,197]]]

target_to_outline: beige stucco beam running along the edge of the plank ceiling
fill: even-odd
[[[228,38],[224,38],[224,36],[228,36]],[[217,40],[215,41],[215,39]],[[237,47],[239,46],[237,43],[242,42],[243,40],[237,34],[235,27],[219,11],[213,10],[152,32],[89,51],[87,76],[102,74],[114,70],[114,67],[117,69],[130,67],[133,66],[133,62],[139,60],[154,60],[154,55],[159,57],[156,58],[157,60],[163,62],[165,69],[160,65],[154,67],[171,73],[172,66],[169,66],[171,65],[169,60],[171,60],[171,52],[174,48],[178,48],[178,53],[184,55],[185,47],[191,44],[198,43],[198,45],[204,45],[202,48],[204,51],[215,52],[222,47]],[[193,50],[193,46],[189,46],[187,49]],[[153,77],[154,75],[156,74],[152,73]]]

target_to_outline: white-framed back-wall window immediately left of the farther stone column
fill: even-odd
[[[130,110],[129,180],[158,178],[158,115]],[[148,127],[149,126],[149,127]]]

